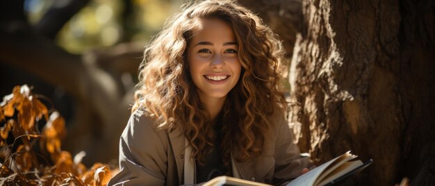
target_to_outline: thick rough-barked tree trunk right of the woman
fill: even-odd
[[[350,185],[435,183],[434,3],[318,0],[302,12],[289,77],[301,150],[372,158]]]

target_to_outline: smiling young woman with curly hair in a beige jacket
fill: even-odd
[[[145,50],[109,185],[187,185],[216,176],[283,185],[299,158],[279,91],[284,51],[233,1],[192,3]]]

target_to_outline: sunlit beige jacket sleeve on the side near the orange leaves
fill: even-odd
[[[133,112],[120,139],[120,172],[108,185],[165,185],[168,143],[151,119]]]

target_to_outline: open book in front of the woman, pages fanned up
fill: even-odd
[[[361,160],[355,160],[357,156],[352,155],[350,151],[343,155],[326,162],[319,167],[297,177],[295,180],[287,184],[287,186],[293,185],[334,185],[340,183],[343,180],[349,178],[353,174],[366,168],[372,163],[372,160],[368,160],[363,163]],[[234,185],[234,186],[249,186],[258,185],[265,186],[264,183],[256,183],[253,181],[242,180],[239,178],[232,178],[229,176],[219,176],[209,180],[204,186],[216,186],[216,185]]]

